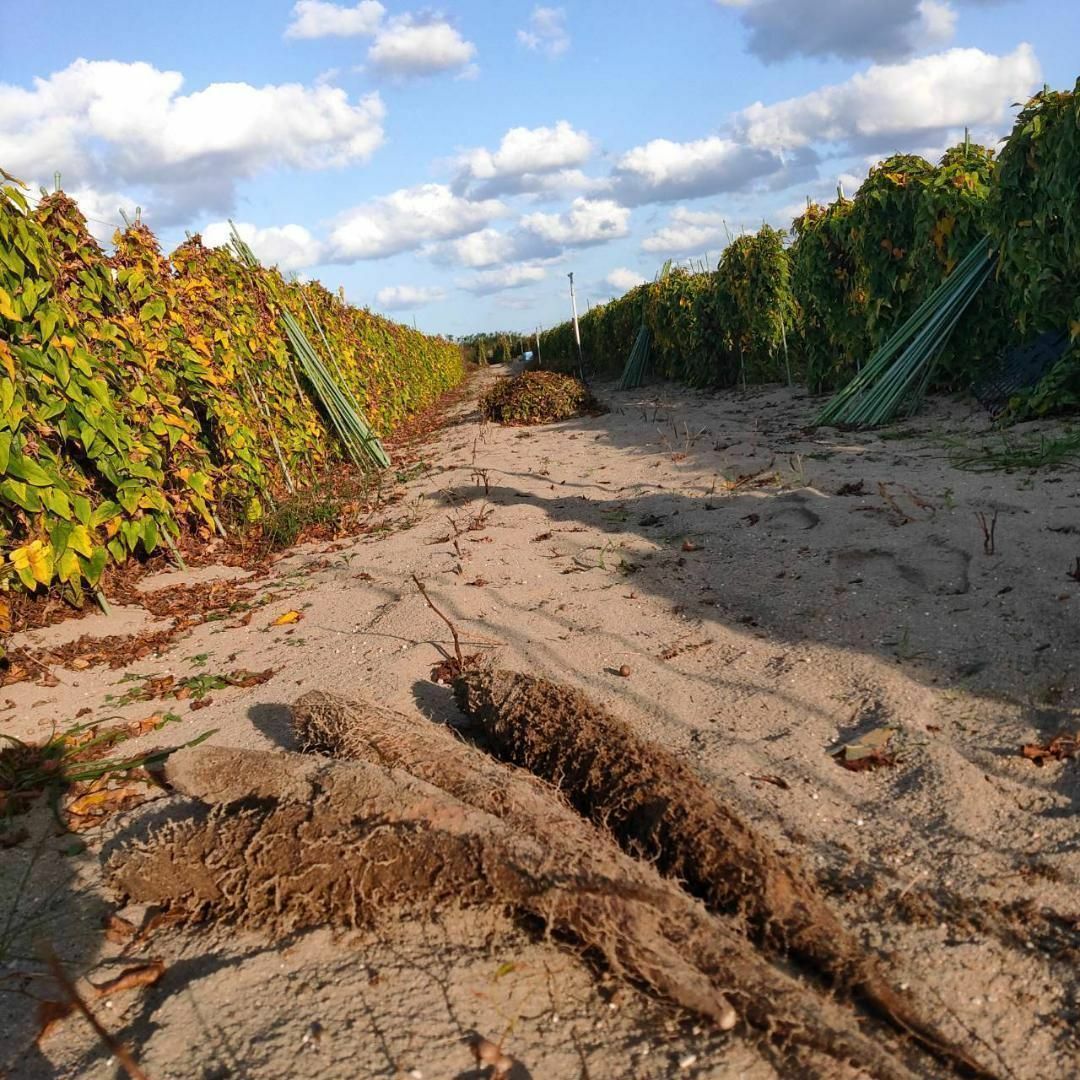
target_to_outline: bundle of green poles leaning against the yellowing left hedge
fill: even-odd
[[[255,257],[255,253],[244,242],[240,233],[237,232],[237,227],[232,221],[229,222],[229,227],[232,229],[232,246],[235,248],[237,255],[251,269],[258,269],[259,260]],[[386,449],[383,449],[382,443],[379,442],[364,419],[360,404],[353,396],[352,391],[349,389],[349,383],[346,381],[341,368],[338,366],[334,350],[330,348],[330,343],[326,337],[326,332],[323,329],[311,306],[307,303],[307,298],[305,297],[305,303],[308,308],[308,314],[311,316],[320,337],[323,339],[326,353],[337,374],[336,379],[329,368],[323,363],[319,353],[315,352],[308,336],[303,333],[303,328],[285,307],[282,298],[274,297],[274,299],[278,301],[281,312],[281,323],[285,329],[285,337],[288,338],[293,355],[296,357],[296,362],[303,373],[303,377],[307,379],[316,403],[322,406],[323,411],[329,418],[346,453],[352,459],[353,463],[362,469],[370,465],[375,465],[377,469],[387,469],[390,465],[390,457],[387,455]]]

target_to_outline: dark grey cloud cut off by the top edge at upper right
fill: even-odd
[[[947,0],[716,0],[748,30],[747,49],[766,63],[792,56],[902,59],[950,41]],[[987,3],[994,0],[969,0]]]

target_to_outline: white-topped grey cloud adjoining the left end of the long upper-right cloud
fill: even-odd
[[[775,172],[780,159],[766,147],[710,135],[690,143],[657,138],[616,163],[615,191],[623,202],[669,202],[735,191]]]

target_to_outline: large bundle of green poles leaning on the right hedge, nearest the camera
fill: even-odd
[[[945,342],[994,269],[990,255],[989,239],[975,244],[814,422],[874,428],[914,411]]]

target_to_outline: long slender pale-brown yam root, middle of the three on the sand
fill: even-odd
[[[906,1075],[859,1031],[850,1013],[778,971],[730,920],[710,915],[651,865],[626,855],[551,784],[499,764],[446,728],[318,690],[293,705],[293,732],[301,751],[405,769],[538,840],[565,872],[610,877],[651,897],[663,912],[661,932],[672,947],[714,985],[726,987],[739,1014],[778,1042],[811,1047],[874,1076]],[[654,977],[643,981],[661,988]],[[663,993],[679,1001],[673,988]]]

